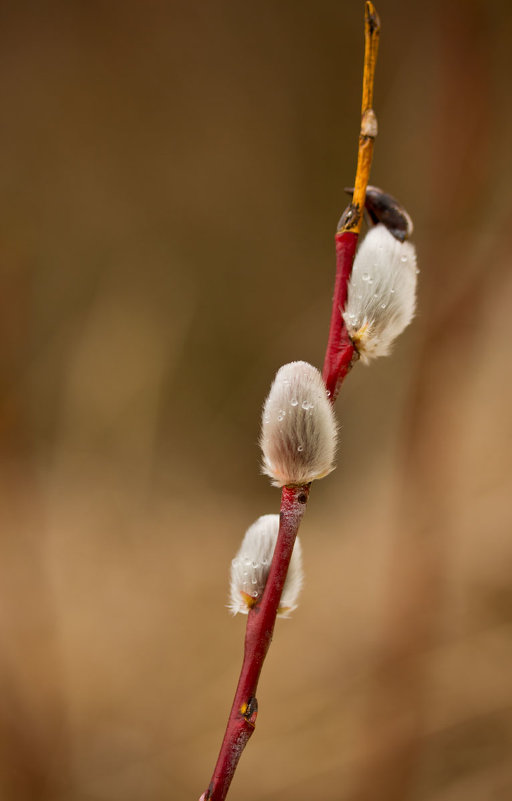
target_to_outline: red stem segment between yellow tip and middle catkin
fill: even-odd
[[[323,379],[332,403],[354,358],[355,348],[348,335],[342,312],[347,302],[348,281],[354,263],[357,240],[358,234],[355,231],[343,231],[335,236],[336,280],[323,369]]]

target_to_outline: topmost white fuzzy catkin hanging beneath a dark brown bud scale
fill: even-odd
[[[356,253],[343,319],[363,361],[387,356],[414,317],[416,250],[376,225]]]

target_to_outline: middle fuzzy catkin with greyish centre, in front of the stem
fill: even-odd
[[[276,487],[323,478],[334,469],[336,439],[334,412],[316,367],[285,364],[263,408],[263,472]]]

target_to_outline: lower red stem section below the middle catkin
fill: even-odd
[[[224,801],[242,751],[254,731],[258,713],[258,680],[272,641],[279,601],[300,521],[306,510],[309,487],[309,484],[283,487],[279,533],[270,573],[261,601],[249,611],[242,670],[226,733],[212,780],[199,801]]]

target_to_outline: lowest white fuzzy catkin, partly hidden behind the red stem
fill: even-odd
[[[279,532],[279,515],[263,515],[247,529],[236,557],[231,562],[231,612],[247,614],[263,595]],[[295,540],[288,575],[278,609],[279,617],[288,617],[297,608],[302,588],[302,550]]]

